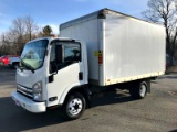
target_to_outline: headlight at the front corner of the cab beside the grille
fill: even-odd
[[[42,101],[42,81],[38,81],[33,85],[33,100]]]

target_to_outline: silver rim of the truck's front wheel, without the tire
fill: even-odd
[[[79,99],[79,98],[75,98],[75,99],[72,99],[70,102],[69,102],[69,106],[67,106],[67,112],[71,114],[71,116],[76,116],[79,114],[83,109],[83,103],[82,103],[82,100]]]

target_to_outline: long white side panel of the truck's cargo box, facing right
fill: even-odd
[[[165,29],[122,14],[107,14],[104,56],[106,81],[157,76],[165,72]]]

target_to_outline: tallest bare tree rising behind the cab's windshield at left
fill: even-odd
[[[17,48],[17,53],[21,54],[23,46],[27,42],[35,38],[38,25],[31,16],[18,18],[13,20],[10,31],[8,32],[10,42]]]

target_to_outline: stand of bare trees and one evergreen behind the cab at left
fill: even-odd
[[[0,55],[18,54],[20,55],[27,42],[41,36],[49,36],[52,29],[48,25],[44,29],[33,21],[31,16],[17,18],[12,25],[0,37]]]

